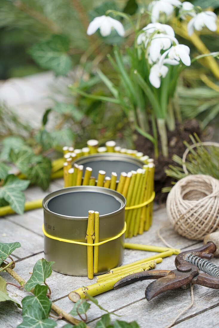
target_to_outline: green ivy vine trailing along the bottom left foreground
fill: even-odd
[[[13,261],[11,254],[20,246],[21,245],[19,242],[0,243],[0,272],[5,270],[7,271],[7,268],[14,268],[15,262]],[[10,258],[12,261],[8,262],[7,258]],[[51,267],[53,264],[54,262],[48,262],[44,258],[41,258],[34,265],[33,273],[26,283],[22,280],[18,281],[20,286],[13,284],[16,287],[24,288],[26,291],[32,292],[33,294],[24,297],[21,301],[23,321],[17,326],[17,328],[50,328],[57,326],[57,322],[52,318],[53,316],[50,315],[53,303],[50,300],[51,290],[46,283],[46,279],[52,274]],[[10,270],[9,273],[12,277],[19,280],[13,270]],[[6,286],[7,282],[0,276],[0,302],[11,301],[21,308],[19,303],[8,296]],[[89,328],[86,324],[86,312],[90,308],[90,303],[88,303],[88,300],[98,306],[101,310],[107,312],[102,315],[100,320],[97,321],[95,328],[139,328],[136,321],[128,323],[125,321],[115,320],[114,323],[111,323],[110,314],[114,313],[109,313],[98,304],[98,301],[94,297],[91,297],[88,294],[86,299],[79,299],[69,313],[72,318],[78,315],[82,321],[73,318],[78,324],[72,326],[70,323],[67,323],[63,327]],[[59,312],[62,312],[62,310]],[[85,318],[82,316],[85,316]],[[62,318],[62,316],[56,317],[55,319],[59,318]]]

